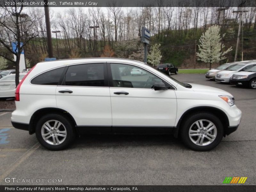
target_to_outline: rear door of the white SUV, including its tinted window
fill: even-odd
[[[68,111],[78,126],[112,125],[106,73],[106,63],[73,65],[57,86],[57,107]]]

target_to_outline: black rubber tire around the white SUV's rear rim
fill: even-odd
[[[41,134],[41,129],[42,129],[43,124],[50,120],[59,121],[60,123],[62,123],[65,126],[65,129],[66,129],[66,138],[62,143],[60,143],[58,145],[52,145],[52,144],[47,143],[43,139],[43,136]],[[56,136],[56,137],[58,137],[58,136]],[[45,115],[45,116],[41,117],[36,124],[36,138],[39,141],[39,143],[47,149],[54,150],[54,151],[62,150],[62,149],[67,148],[74,140],[74,138],[75,138],[74,126],[66,116],[62,116],[60,114]]]

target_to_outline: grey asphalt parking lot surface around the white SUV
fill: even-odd
[[[0,112],[0,184],[221,185],[225,177],[237,176],[255,185],[256,90],[209,81],[204,74],[172,77],[233,94],[243,112],[238,130],[208,152],[187,149],[170,135],[86,135],[66,150],[49,151],[35,134],[12,127],[11,112]],[[6,177],[41,181],[6,183]]]

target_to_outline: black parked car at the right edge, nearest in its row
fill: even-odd
[[[256,89],[256,66],[233,74],[230,83]]]

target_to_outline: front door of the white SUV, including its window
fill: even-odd
[[[108,64],[113,126],[169,126],[175,124],[177,101],[174,90],[155,91],[159,77],[144,69],[143,76],[122,76],[126,64]],[[112,77],[113,76],[113,77]],[[128,94],[115,94],[126,92]]]

